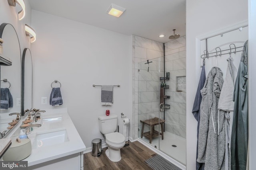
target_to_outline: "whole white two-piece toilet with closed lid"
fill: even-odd
[[[124,147],[125,137],[121,133],[115,132],[117,127],[117,115],[99,116],[100,132],[106,137],[108,149],[106,155],[113,162],[121,160],[120,149]]]

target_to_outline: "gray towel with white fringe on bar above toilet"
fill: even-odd
[[[101,105],[111,106],[113,103],[113,86],[102,85],[101,86]]]

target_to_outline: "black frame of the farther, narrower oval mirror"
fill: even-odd
[[[29,48],[25,48],[22,54],[22,65],[21,65],[21,115],[24,116],[24,85],[25,85],[25,57],[26,57],[26,52],[29,51],[30,52],[30,57],[31,57],[31,63],[32,63],[32,54]],[[32,81],[33,81],[33,65],[31,66],[32,68]],[[32,102],[33,102],[33,83],[31,85],[32,89],[32,93],[31,93],[31,108],[29,110],[32,109]],[[27,112],[28,113],[28,112]]]

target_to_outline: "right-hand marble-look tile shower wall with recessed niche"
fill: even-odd
[[[164,44],[165,71],[170,72],[166,85],[165,130],[186,138],[186,36]]]

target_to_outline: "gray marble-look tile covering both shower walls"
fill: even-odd
[[[170,109],[165,111],[165,130],[180,137],[186,137],[186,86],[182,82],[182,92],[177,92],[177,77],[186,76],[186,36],[159,43],[143,37],[133,35],[133,139],[141,133],[140,120],[158,117],[159,104],[159,77],[164,76],[164,53],[166,72],[170,72],[170,80],[166,85],[166,104]],[[149,60],[152,63],[145,64]],[[149,66],[149,68],[148,68]],[[160,69],[160,72],[158,71]],[[163,118],[163,113],[160,113]],[[138,131],[139,129],[139,131]],[[144,127],[144,132],[149,131]]]

